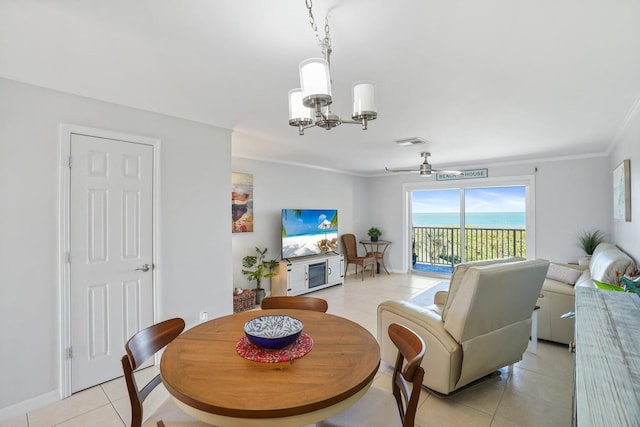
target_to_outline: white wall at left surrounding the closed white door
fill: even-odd
[[[58,394],[60,123],[161,141],[159,315],[232,311],[230,131],[0,79],[0,419]]]

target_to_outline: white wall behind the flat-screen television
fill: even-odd
[[[234,133],[235,138],[252,138]],[[259,143],[255,140],[254,143]],[[280,259],[280,211],[338,209],[338,234],[366,225],[367,179],[331,171],[244,158],[232,159],[233,172],[253,174],[254,232],[233,233],[234,287],[253,288],[242,275],[242,258],[255,247],[268,248],[268,258]],[[364,225],[363,225],[364,224]],[[270,283],[263,286],[270,290]]]

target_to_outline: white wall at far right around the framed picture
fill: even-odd
[[[607,168],[610,186],[613,185],[611,171],[624,159],[629,159],[631,165],[631,222],[612,219],[612,230],[618,246],[631,255],[636,262],[640,262],[640,111],[638,108],[611,153]],[[611,200],[609,203],[612,203]]]

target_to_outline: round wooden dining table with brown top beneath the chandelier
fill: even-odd
[[[284,314],[301,320],[312,349],[288,362],[256,362],[236,350],[244,324]],[[219,427],[304,426],[329,418],[367,391],[380,365],[373,335],[348,319],[306,310],[246,311],[187,330],[165,349],[162,382],[191,416]]]

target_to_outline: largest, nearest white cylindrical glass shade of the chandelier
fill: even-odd
[[[305,59],[300,63],[302,103],[315,108],[331,104],[329,64],[322,58]]]

